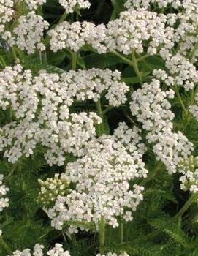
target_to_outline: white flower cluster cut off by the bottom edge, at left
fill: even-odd
[[[22,252],[19,250],[12,252],[13,254],[9,256],[70,256],[69,251],[64,251],[62,244],[55,244],[55,247],[46,254],[44,254],[43,249],[44,246],[42,244],[35,244],[33,253],[31,253],[31,249],[24,249]]]

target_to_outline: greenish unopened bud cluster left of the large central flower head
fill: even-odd
[[[51,208],[58,195],[66,196],[69,194],[69,181],[64,177],[59,177],[58,173],[54,178],[47,178],[46,181],[38,180],[41,189],[37,197],[37,203],[42,208]]]

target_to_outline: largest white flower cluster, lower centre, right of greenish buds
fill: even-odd
[[[119,134],[122,127],[125,130]],[[65,222],[72,221],[94,222],[98,227],[101,217],[113,227],[118,226],[118,217],[132,220],[144,188],[129,183],[148,173],[142,162],[141,137],[134,129],[121,124],[116,135],[91,140],[85,146],[85,157],[66,166],[62,175],[75,184],[75,190],[65,197],[58,196],[53,208],[45,209],[53,227],[61,230]],[[127,142],[132,144],[128,150],[123,145]],[[76,227],[82,228],[80,224]]]

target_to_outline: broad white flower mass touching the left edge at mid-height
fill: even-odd
[[[96,135],[94,124],[101,118],[96,113],[69,114],[72,99],[58,83],[59,76],[41,72],[34,79],[20,65],[0,73],[0,106],[10,104],[16,121],[1,129],[0,150],[16,162],[22,154],[29,157],[37,143],[47,147],[49,165],[64,165],[65,153],[84,154],[83,147]]]

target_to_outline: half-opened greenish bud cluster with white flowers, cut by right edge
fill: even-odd
[[[180,160],[178,170],[183,176],[180,177],[181,189],[192,193],[198,192],[198,157],[190,156]]]

